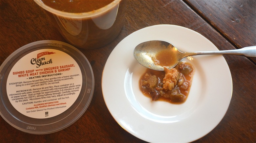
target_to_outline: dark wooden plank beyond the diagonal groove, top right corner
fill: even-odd
[[[208,24],[235,48],[256,45],[256,1],[186,0]],[[256,58],[249,58],[254,64]]]

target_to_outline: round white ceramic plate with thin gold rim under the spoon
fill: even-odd
[[[213,130],[224,117],[232,95],[232,79],[223,56],[185,58],[195,68],[185,103],[170,104],[145,97],[139,78],[146,68],[133,57],[145,41],[163,40],[183,52],[218,50],[201,34],[176,25],[155,25],[124,38],[110,54],[102,74],[105,103],[117,123],[147,142],[191,142]]]

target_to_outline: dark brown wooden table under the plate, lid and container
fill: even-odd
[[[199,32],[219,50],[256,45],[255,7],[253,0],[127,1],[125,24],[118,37],[102,48],[79,49],[89,60],[95,75],[94,96],[83,116],[71,126],[47,135],[24,133],[1,117],[0,142],[144,142],[117,124],[103,100],[102,71],[118,42],[147,26],[174,24]],[[1,64],[12,52],[28,43],[38,40],[66,42],[45,11],[31,0],[1,0],[0,14]],[[233,83],[229,108],[216,128],[195,142],[256,142],[255,62],[243,56],[225,55],[224,58]]]

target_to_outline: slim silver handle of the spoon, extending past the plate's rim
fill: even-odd
[[[256,46],[245,47],[236,50],[223,50],[223,51],[205,51],[205,52],[194,52],[191,55],[241,55],[248,57],[256,57]]]

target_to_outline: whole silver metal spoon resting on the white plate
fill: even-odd
[[[163,66],[159,65],[157,61],[157,54],[163,50],[171,50],[172,57],[175,62],[173,64],[166,66],[168,69],[175,67],[183,57],[186,56],[195,56],[195,55],[241,55],[241,56],[249,56],[256,57],[256,46],[245,47],[242,49],[236,50],[224,50],[224,51],[205,51],[205,52],[180,52],[177,48],[175,48],[172,44],[153,40],[147,41],[139,44],[135,47],[133,56],[135,59],[144,67],[163,71]],[[169,52],[170,53],[170,52]]]

